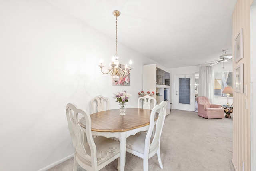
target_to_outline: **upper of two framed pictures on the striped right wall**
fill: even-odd
[[[243,28],[240,29],[235,38],[235,63],[244,58]]]

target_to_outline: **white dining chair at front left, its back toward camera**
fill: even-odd
[[[66,116],[74,145],[73,170],[76,171],[79,164],[88,171],[98,171],[115,159],[118,159],[117,169],[119,170],[120,143],[112,138],[102,136],[93,139],[91,118],[84,109],[78,109],[76,105],[68,103],[66,105]],[[82,117],[85,118],[86,129],[79,125],[79,118]],[[84,142],[84,136],[87,138],[87,143]]]

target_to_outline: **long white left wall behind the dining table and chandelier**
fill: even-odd
[[[114,38],[44,0],[1,0],[0,23],[1,171],[48,169],[72,156],[67,103],[89,111],[90,99],[104,95],[118,108],[113,93],[127,90],[127,107],[137,106],[142,65],[152,60],[119,43],[120,63],[131,59],[134,69],[130,86],[112,86],[98,65],[103,58],[108,66]]]

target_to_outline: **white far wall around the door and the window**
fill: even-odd
[[[224,62],[224,69],[223,67],[223,62],[220,62],[218,64],[214,65],[214,72],[224,72],[224,71],[232,71],[232,62]],[[175,78],[174,76],[177,74],[191,74],[191,73],[196,73],[199,72],[199,65],[197,66],[189,66],[189,67],[180,67],[180,68],[170,68],[170,103],[171,104],[171,109],[175,109]],[[233,98],[229,98],[229,103],[233,103]],[[214,103],[215,104],[220,104],[224,105],[227,103],[227,98],[226,97],[215,97],[214,98]]]

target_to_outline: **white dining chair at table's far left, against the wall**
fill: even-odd
[[[105,111],[110,109],[110,99],[102,95],[91,100],[91,114],[99,111]]]

